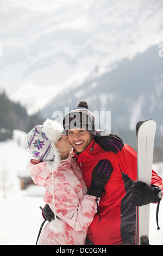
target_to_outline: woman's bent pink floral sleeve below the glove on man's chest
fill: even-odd
[[[79,200],[75,190],[78,190],[78,188],[73,188],[66,182],[55,187],[55,210],[62,221],[65,221],[74,230],[80,231],[87,228],[93,221],[97,212],[97,204],[96,197],[88,194],[82,200]],[[54,211],[53,200],[48,204]]]

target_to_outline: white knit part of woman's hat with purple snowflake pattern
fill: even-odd
[[[51,141],[43,132],[43,125],[37,125],[27,135],[26,147],[29,153],[41,161],[54,161],[54,150]]]

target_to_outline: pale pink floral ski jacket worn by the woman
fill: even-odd
[[[29,171],[38,186],[46,188],[43,200],[54,211],[52,173],[46,162],[29,163]],[[86,194],[82,172],[72,158],[62,160],[54,176],[55,211],[64,223],[64,231],[54,233],[49,223],[42,230],[41,245],[85,245],[87,228],[97,212],[96,197]]]

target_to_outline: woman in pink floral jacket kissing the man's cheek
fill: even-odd
[[[27,149],[38,159],[30,161],[30,174],[35,184],[46,188],[43,200],[55,216],[55,220],[42,230],[39,243],[85,245],[87,228],[97,212],[99,200],[87,194],[82,172],[73,159],[72,147],[67,136],[61,135],[61,130],[61,124],[47,119],[43,126],[36,126],[27,136]],[[98,169],[95,172],[96,179],[100,178],[101,172]]]

